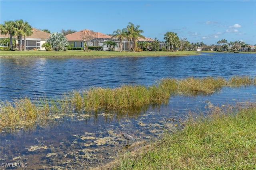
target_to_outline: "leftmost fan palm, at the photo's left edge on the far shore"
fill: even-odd
[[[0,24],[1,34],[10,35],[10,47],[13,50],[12,36],[15,34],[14,32],[14,21],[5,21],[4,24]]]

